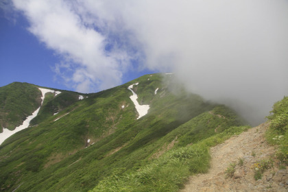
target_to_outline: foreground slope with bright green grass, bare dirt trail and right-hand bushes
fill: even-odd
[[[178,142],[176,136],[171,143],[163,145],[147,165],[122,174],[115,171],[91,192],[164,192],[182,188],[182,191],[287,191],[287,106],[288,97],[276,102],[269,116],[271,121],[255,128],[230,127],[197,143],[171,149]],[[215,111],[208,114],[226,119]],[[193,176],[183,186],[189,175]]]

